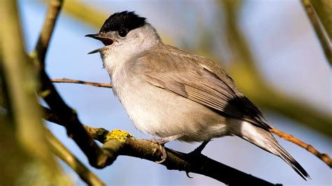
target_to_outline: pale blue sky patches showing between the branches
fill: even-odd
[[[93,6],[113,13],[120,10],[136,10],[147,17],[158,31],[167,33],[174,45],[191,43],[198,34],[193,17],[211,25],[217,9],[214,1],[86,1]],[[27,50],[36,44],[46,14],[46,6],[33,0],[20,1],[22,27]],[[93,16],[93,15],[92,15]],[[106,19],[107,17],[105,17]],[[177,29],[174,29],[177,28]],[[241,19],[241,28],[247,34],[254,57],[264,77],[281,91],[305,99],[321,110],[331,112],[331,69],[321,51],[310,22],[298,1],[247,1]],[[73,78],[109,83],[109,75],[102,69],[99,55],[86,55],[99,48],[100,43],[84,38],[97,30],[87,27],[62,14],[46,58],[51,78]],[[227,50],[225,50],[227,51]],[[134,128],[119,101],[110,89],[86,85],[57,84],[64,100],[78,111],[81,121],[92,127],[125,129],[137,138],[151,138]],[[285,117],[263,110],[268,122],[282,131],[314,145],[321,152],[332,155],[331,138],[293,122]],[[48,124],[55,135],[79,159],[88,165],[75,143],[66,136],[62,127]],[[236,137],[214,139],[203,154],[219,162],[251,173],[272,183],[284,185],[331,185],[331,169],[317,157],[302,148],[277,138],[279,143],[310,173],[312,180],[304,182],[281,159]],[[167,143],[167,147],[190,152],[198,143]],[[64,169],[77,181],[81,180],[64,165]],[[216,180],[184,172],[168,171],[164,166],[133,157],[118,157],[106,169],[90,168],[108,185],[213,185]]]

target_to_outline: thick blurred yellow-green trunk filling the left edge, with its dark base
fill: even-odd
[[[4,87],[1,92],[6,96],[6,107],[0,111],[0,183],[71,185],[45,141],[41,108],[35,94],[40,81],[25,52],[17,1],[0,1],[0,12],[0,89]]]

